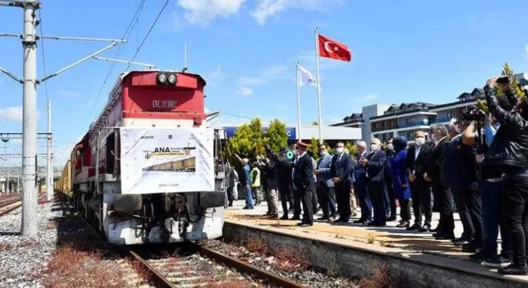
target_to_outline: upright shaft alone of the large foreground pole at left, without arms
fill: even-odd
[[[23,3],[23,112],[22,112],[22,235],[36,235],[36,10],[39,4]]]

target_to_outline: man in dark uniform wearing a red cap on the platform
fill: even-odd
[[[303,202],[303,220],[298,223],[298,226],[307,227],[314,225],[314,211],[311,203],[312,191],[315,191],[316,184],[314,182],[314,163],[311,157],[307,154],[306,149],[308,144],[303,142],[297,143],[297,152],[299,155],[294,168],[294,184],[300,195],[300,200]]]

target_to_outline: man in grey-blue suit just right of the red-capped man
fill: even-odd
[[[333,221],[336,215],[336,193],[333,190],[331,180],[330,165],[332,164],[332,155],[329,154],[327,145],[319,146],[320,158],[317,162],[317,190],[321,197],[322,217],[319,220]]]

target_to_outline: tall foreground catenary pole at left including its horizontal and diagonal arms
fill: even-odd
[[[20,37],[23,46],[23,79],[16,77],[13,73],[0,67],[0,72],[8,75],[13,80],[23,84],[23,121],[22,121],[22,235],[36,235],[36,186],[38,184],[36,175],[36,85],[49,80],[56,75],[63,73],[77,64],[85,62],[108,49],[125,43],[126,40],[102,39],[102,38],[78,38],[78,37],[56,37],[37,36],[36,26],[41,19],[36,19],[36,11],[41,8],[39,0],[0,0],[0,6],[23,8],[24,31],[22,35],[0,34],[0,36]],[[89,56],[69,64],[50,75],[44,75],[41,80],[36,79],[36,40],[40,38],[54,40],[84,40],[84,41],[106,41],[110,45],[104,47]],[[50,132],[50,131],[48,131]],[[48,140],[49,141],[49,140]]]

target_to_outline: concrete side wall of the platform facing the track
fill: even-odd
[[[528,287],[528,282],[516,276],[500,276],[470,261],[425,254],[420,251],[388,248],[341,239],[316,239],[300,235],[303,230],[278,231],[226,219],[225,237],[261,237],[270,248],[313,247],[307,252],[311,264],[323,269],[339,269],[345,276],[364,278],[385,266],[389,273],[412,287]],[[336,267],[338,266],[338,267]]]

